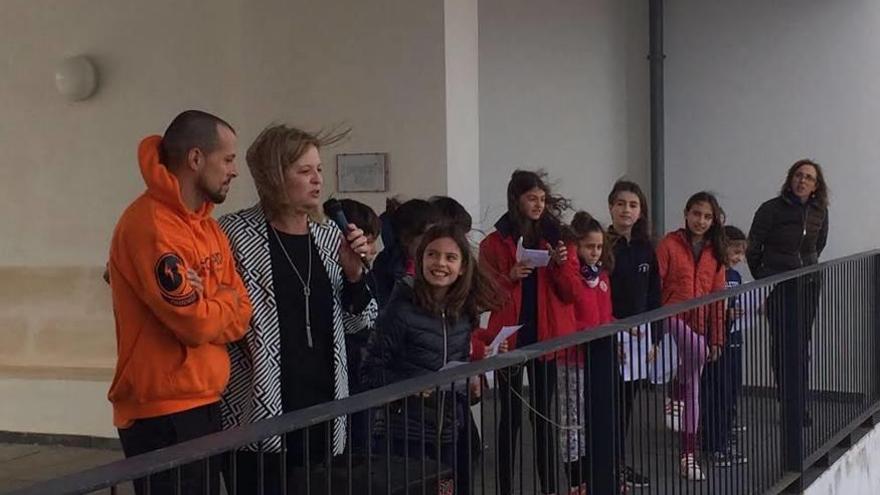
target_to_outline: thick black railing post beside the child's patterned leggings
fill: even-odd
[[[587,440],[591,487],[589,493],[618,493],[618,449],[616,442],[609,445],[607,438],[618,438],[618,420],[621,414],[618,407],[615,384],[619,381],[617,374],[617,336],[611,335],[586,344],[587,365],[585,385],[587,399],[587,424],[589,439]],[[609,407],[609,404],[611,407]],[[602,432],[606,432],[602,434]],[[607,432],[612,432],[609,436]]]

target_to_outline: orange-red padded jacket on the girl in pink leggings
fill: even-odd
[[[725,269],[707,241],[694,260],[684,229],[666,234],[657,245],[661,303],[666,306],[724,290]],[[709,335],[709,344],[724,344],[724,301],[687,312],[683,320],[700,335]],[[708,329],[708,332],[707,332]]]

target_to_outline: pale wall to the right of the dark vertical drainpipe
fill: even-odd
[[[880,2],[670,0],[666,12],[667,226],[688,195],[719,193],[748,229],[801,157],[825,167],[824,259],[878,245]]]

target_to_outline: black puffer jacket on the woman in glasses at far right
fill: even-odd
[[[828,210],[791,193],[765,202],[749,230],[746,260],[756,279],[819,262],[828,239]]]

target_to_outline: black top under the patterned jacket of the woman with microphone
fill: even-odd
[[[281,407],[289,412],[333,400],[333,293],[318,249],[314,242],[309,242],[309,236],[278,232],[278,238],[303,280],[308,279],[308,250],[312,251],[309,348],[303,284],[269,226],[269,254],[281,333]]]

